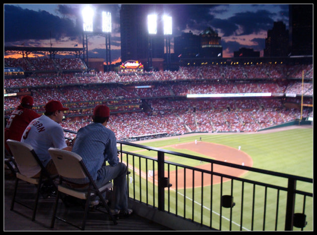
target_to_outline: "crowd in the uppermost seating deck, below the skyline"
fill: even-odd
[[[29,66],[26,66],[29,65]],[[63,69],[53,69],[53,66]],[[211,80],[211,81],[235,81],[243,79],[286,79],[301,78],[302,71],[306,79],[312,79],[313,69],[311,64],[284,65],[284,64],[252,64],[252,65],[201,65],[184,67],[178,71],[152,71],[147,73],[116,73],[99,72],[91,73],[87,70],[83,73],[72,73],[70,71],[83,69],[85,64],[80,58],[75,59],[41,59],[41,58],[5,58],[5,66],[21,66],[25,71],[40,71],[37,77],[27,78],[24,82],[11,81],[5,79],[5,87],[40,86],[47,84],[47,75],[41,71],[59,71],[52,74],[52,80],[57,79],[59,84],[90,84],[90,83],[129,83],[129,82],[149,82],[149,81],[188,81],[188,80]],[[32,68],[32,69],[30,69]],[[69,69],[69,70],[67,70]],[[68,73],[66,73],[68,71]],[[46,76],[46,78],[43,78]],[[42,79],[40,79],[42,78]],[[49,78],[48,78],[49,79]],[[40,81],[38,81],[40,80]],[[45,82],[44,82],[45,81]],[[58,84],[51,81],[51,84]]]

